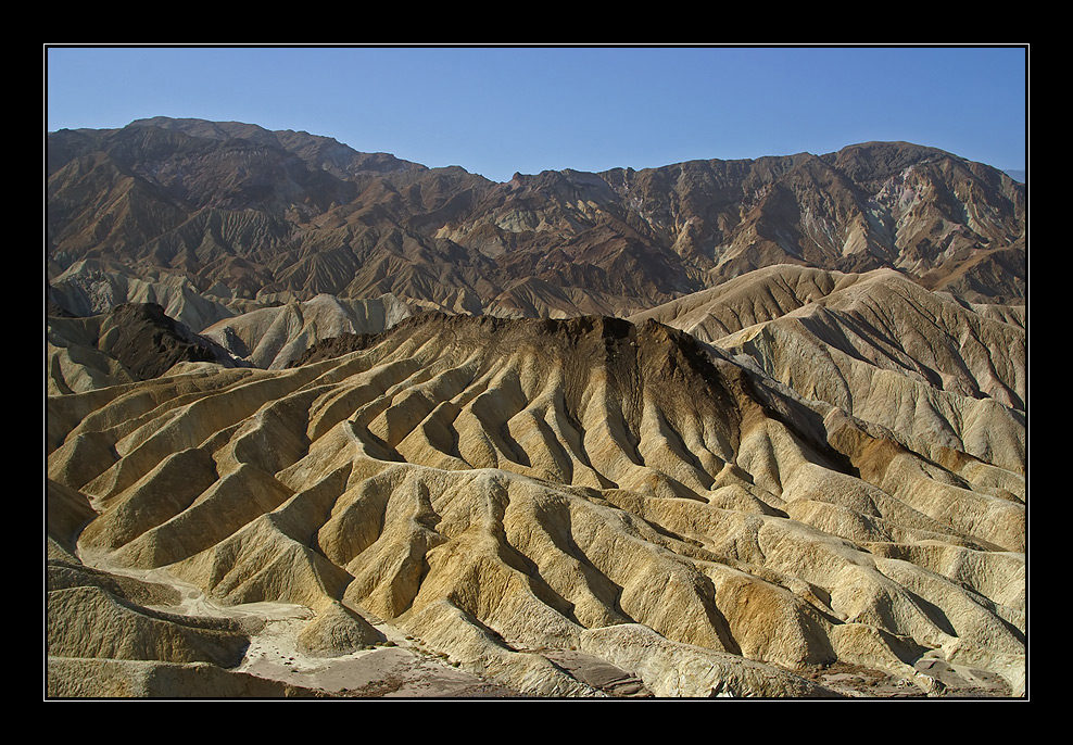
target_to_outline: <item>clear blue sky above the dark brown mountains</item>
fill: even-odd
[[[1027,167],[1024,47],[46,47],[46,130],[305,130],[496,181],[870,140]]]

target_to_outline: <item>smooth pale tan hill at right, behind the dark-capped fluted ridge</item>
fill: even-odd
[[[780,266],[634,316],[683,329],[806,399],[947,450],[1025,471],[1024,306],[971,305],[887,269]]]

